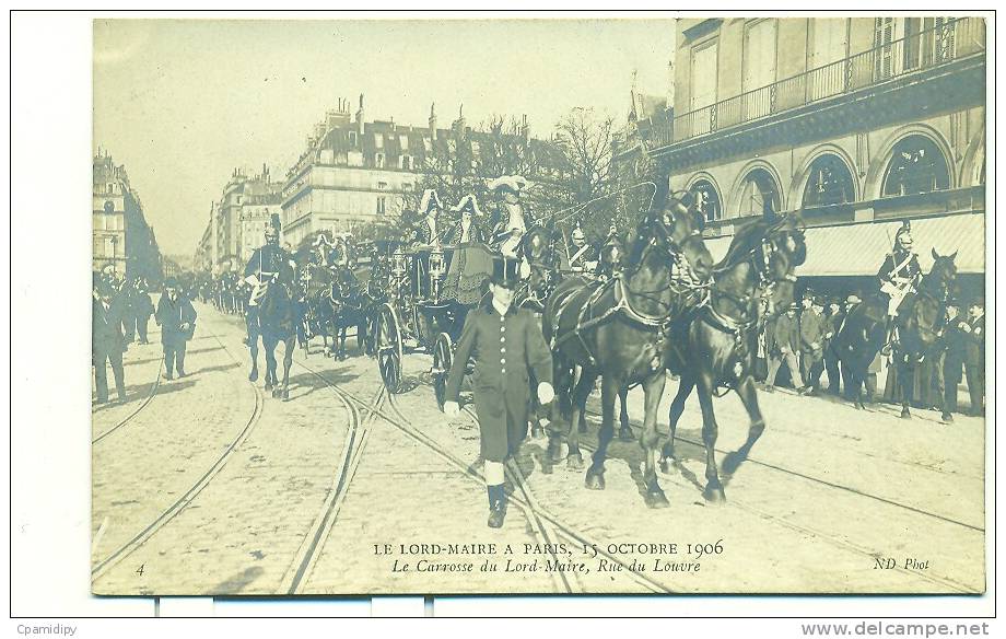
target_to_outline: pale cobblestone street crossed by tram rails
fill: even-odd
[[[692,398],[678,463],[659,476],[669,508],[646,508],[635,442],[612,442],[607,489],[590,491],[582,470],[528,440],[508,466],[505,525],[491,530],[473,413],[438,410],[428,355],[406,355],[406,391],[389,396],[352,337],[346,361],[325,358],[315,339],[309,356],[294,353],[283,402],[248,382],[243,321],[196,307],[189,375],[159,379],[154,329],[125,356],[127,402],[93,411],[95,593],[985,588],[982,419],[948,426],[915,410],[902,420],[892,406],[864,413],[762,393],[764,435],[724,476],[726,503],[710,506]],[[662,403],[664,432],[676,387],[669,381]],[[734,395],[715,406],[722,461],[745,440],[747,417]],[[589,407],[592,450],[596,398]],[[639,433],[637,391],[629,411]]]

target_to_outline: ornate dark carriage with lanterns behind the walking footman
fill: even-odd
[[[445,289],[453,245],[396,246],[387,256],[387,301],[374,310],[373,342],[385,387],[399,393],[401,360],[407,351],[422,349],[434,357],[434,370],[449,371],[449,334],[455,329],[458,304]],[[372,281],[381,280],[372,277]],[[446,356],[446,367],[444,358]]]

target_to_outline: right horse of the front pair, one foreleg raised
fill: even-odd
[[[759,219],[734,235],[726,257],[713,269],[709,299],[675,323],[667,368],[680,374],[681,381],[670,405],[670,432],[660,466],[666,472],[667,460],[674,457],[675,432],[685,411],[685,400],[698,390],[705,444],[705,498],[710,501],[724,499],[716,468],[718,426],[713,396],[721,390],[724,393],[734,390],[750,418],[747,441],[723,464],[724,470],[733,474],[765,428],[752,374],[761,301],[768,300],[769,315],[786,309],[793,301],[796,281],[793,269],[806,257],[807,245],[798,218],[786,217],[779,222]],[[658,441],[655,427],[647,428],[641,439],[646,451],[643,481],[651,504],[666,503],[654,464]]]

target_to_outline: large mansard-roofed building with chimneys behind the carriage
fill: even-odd
[[[318,231],[352,232],[385,221],[395,224],[406,209],[416,206],[421,186],[436,175],[445,178],[445,187],[457,185],[455,178],[464,175],[460,182],[470,182],[476,190],[479,181],[475,177],[482,173],[498,177],[510,171],[531,182],[548,178],[548,173],[559,171],[554,155],[552,144],[530,138],[526,117],[512,123],[506,132],[502,123],[491,131],[473,131],[459,111],[448,128],[440,128],[431,106],[426,127],[403,126],[393,120],[367,121],[362,95],[355,115],[348,101],[340,100],[325,121],[315,126],[306,150],[286,175],[284,240],[297,246]],[[459,198],[447,190],[441,196]],[[481,198],[484,193],[476,195]]]

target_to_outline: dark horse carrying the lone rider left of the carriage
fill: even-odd
[[[294,297],[295,272],[290,263],[283,263],[267,283],[266,293],[258,304],[258,313],[248,321],[252,350],[250,381],[258,379],[258,339],[266,349],[266,391],[273,397],[290,398],[290,367],[296,347],[299,313]],[[277,377],[276,347],[283,342],[283,382]]]

